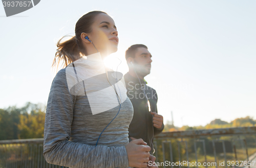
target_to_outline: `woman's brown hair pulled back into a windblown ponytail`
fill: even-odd
[[[90,33],[92,31],[92,24],[94,22],[95,16],[100,13],[107,14],[102,11],[92,11],[87,14],[84,14],[79,20],[76,22],[75,27],[75,36],[71,39],[61,42],[61,40],[66,36],[63,36],[57,42],[57,52],[55,53],[55,57],[52,63],[52,67],[58,67],[59,62],[63,60],[65,62],[65,67],[70,63],[80,59],[83,55],[87,55],[87,51],[82,44],[81,33]],[[56,66],[57,64],[57,66]],[[63,63],[62,63],[63,65]],[[56,68],[57,70],[57,68]]]

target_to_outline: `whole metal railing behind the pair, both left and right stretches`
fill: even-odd
[[[164,168],[256,167],[256,163],[248,166],[248,161],[256,159],[255,137],[256,127],[163,132],[154,138],[154,155],[159,167]],[[0,140],[0,168],[60,168],[46,162],[43,142],[43,138]],[[187,163],[177,164],[183,161]],[[193,165],[195,162],[206,165]]]

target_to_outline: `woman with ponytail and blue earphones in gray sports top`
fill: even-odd
[[[129,142],[128,138],[132,103],[123,96],[123,86],[114,84],[113,87],[108,69],[105,70],[101,62],[117,51],[118,34],[114,20],[105,12],[89,12],[77,21],[75,36],[60,41],[53,65],[56,59],[63,59],[66,67],[56,74],[49,93],[44,134],[46,161],[73,168],[147,167],[149,160],[155,160],[149,153],[150,147],[142,139]],[[80,67],[79,61],[83,64]],[[103,88],[93,88],[93,82],[99,80],[94,78],[95,74],[102,75],[102,70],[105,70],[105,76],[100,82],[106,79],[110,87],[100,84],[98,86]],[[72,77],[77,79],[75,87],[70,85]],[[83,87],[79,88],[79,85]],[[81,88],[84,93],[79,91]],[[115,96],[110,97],[113,94]],[[118,103],[113,101],[114,98]],[[105,102],[98,100],[113,103],[105,107],[102,105]],[[111,108],[115,103],[117,106]]]

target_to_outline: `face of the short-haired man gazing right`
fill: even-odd
[[[150,74],[151,70],[151,54],[144,47],[137,48],[134,58],[135,70],[141,76]]]

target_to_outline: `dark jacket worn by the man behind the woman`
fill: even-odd
[[[129,140],[130,137],[136,139],[142,138],[148,146],[151,147],[151,154],[153,152],[152,136],[153,136],[153,115],[148,110],[146,98],[141,89],[139,79],[131,76],[129,73],[124,75],[125,87],[127,89],[127,97],[131,100],[134,108],[134,115],[129,126]],[[140,79],[144,87],[145,81]],[[147,86],[145,88],[148,101],[150,101],[150,108],[152,112],[157,112],[157,93],[156,90]],[[154,127],[154,135],[162,132],[164,125],[161,128]]]

